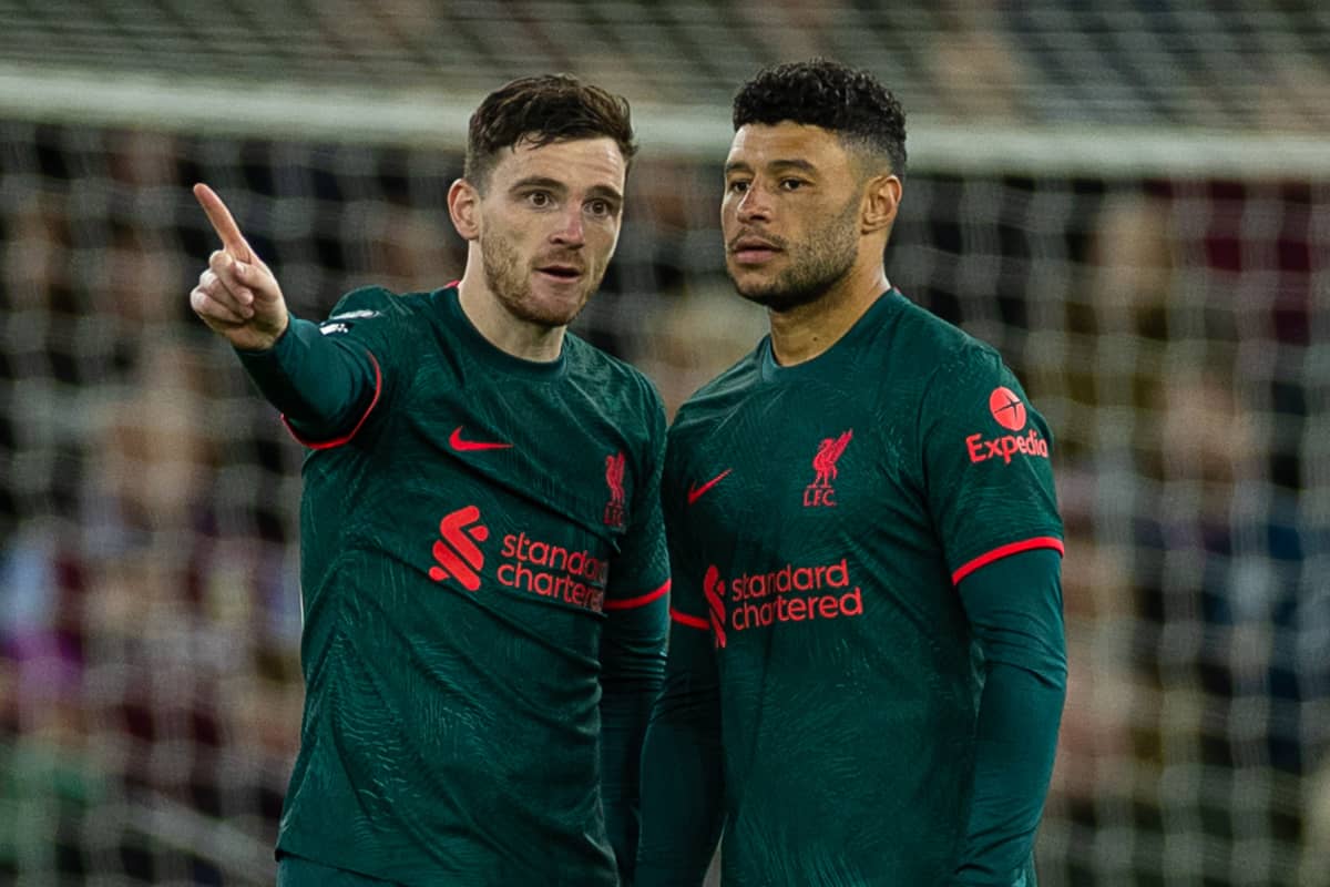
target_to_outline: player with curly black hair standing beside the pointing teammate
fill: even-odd
[[[887,282],[904,116],[864,72],[734,98],[721,222],[770,335],[685,403],[638,887],[1035,883],[1065,686],[1051,439]]]

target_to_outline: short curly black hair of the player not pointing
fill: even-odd
[[[904,177],[906,113],[867,70],[827,59],[763,68],[734,94],[734,130],[782,121],[821,126],[886,154],[891,172]]]

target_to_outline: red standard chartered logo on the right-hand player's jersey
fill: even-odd
[[[728,632],[863,616],[863,590],[851,581],[843,557],[809,567],[786,564],[729,580],[713,565],[702,580],[702,590],[710,608],[716,645],[721,648],[726,645]]]

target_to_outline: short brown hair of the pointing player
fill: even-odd
[[[467,126],[463,177],[484,190],[499,152],[575,138],[613,138],[630,164],[637,153],[628,100],[572,74],[520,77],[485,96]]]

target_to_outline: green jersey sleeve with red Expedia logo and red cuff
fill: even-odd
[[[919,416],[928,511],[952,581],[1021,551],[1063,551],[1053,440],[1016,376],[980,344],[934,374]]]

